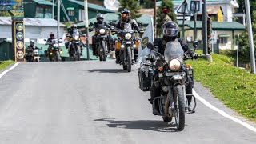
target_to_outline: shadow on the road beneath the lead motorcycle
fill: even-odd
[[[178,132],[176,126],[170,122],[138,120],[138,121],[115,121],[112,118],[95,119],[98,122],[108,122],[106,125],[111,128],[153,130],[158,132]]]

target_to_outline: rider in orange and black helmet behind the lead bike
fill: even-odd
[[[121,21],[119,20],[117,22],[116,28],[120,30],[124,30],[124,25],[126,23],[130,24],[132,29],[136,31],[140,30],[137,22],[134,19],[131,19],[130,10],[125,8],[121,11]],[[138,50],[134,50],[134,52],[135,52],[135,55],[138,54]],[[120,63],[119,51],[115,51],[115,58],[116,58],[116,63]],[[137,56],[135,56],[135,61],[137,62]]]

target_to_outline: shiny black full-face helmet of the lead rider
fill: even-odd
[[[178,25],[173,21],[168,21],[162,25],[163,38],[174,40],[178,35]]]

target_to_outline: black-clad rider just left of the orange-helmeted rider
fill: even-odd
[[[114,29],[114,26],[110,26],[108,23],[104,22],[103,14],[98,13],[96,15],[97,22],[94,22],[94,27],[93,28],[98,28],[102,26],[106,26],[110,28],[111,30]],[[96,55],[96,41],[97,41],[97,35],[94,34],[92,38],[92,48],[93,48],[93,54]],[[107,41],[108,42],[108,41]]]

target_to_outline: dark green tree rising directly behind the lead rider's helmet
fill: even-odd
[[[163,24],[163,18],[164,14],[162,14],[163,9],[169,9],[170,11],[168,12],[169,17],[172,19],[172,21],[177,23],[176,20],[176,14],[174,13],[174,4],[172,0],[162,0],[161,6],[158,7],[157,10],[157,32],[158,34],[161,34],[162,30],[162,24]],[[177,23],[178,24],[178,23]]]

